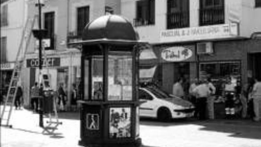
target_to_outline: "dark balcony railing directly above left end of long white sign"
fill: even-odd
[[[190,26],[189,11],[167,14],[167,29],[184,28]]]

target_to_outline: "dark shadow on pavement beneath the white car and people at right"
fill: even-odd
[[[160,122],[152,118],[141,118],[141,125],[146,126],[180,126],[180,125],[199,125],[202,131],[214,131],[228,133],[230,137],[261,139],[261,122],[253,122],[247,119],[235,120],[196,120],[195,118],[173,119],[170,122]]]

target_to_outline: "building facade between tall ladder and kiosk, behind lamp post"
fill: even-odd
[[[28,17],[38,15],[35,1],[28,1]],[[57,90],[60,84],[67,95],[66,105],[71,105],[72,88],[80,84],[81,52],[70,42],[81,40],[84,27],[92,20],[106,13],[120,14],[120,0],[49,0],[42,7],[42,28],[47,29],[44,39],[42,74],[49,75],[49,86]],[[35,38],[26,53],[27,87],[38,82],[39,47]],[[28,91],[27,104],[30,102]]]

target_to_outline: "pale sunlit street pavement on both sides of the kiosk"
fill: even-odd
[[[62,125],[51,135],[39,127],[39,114],[14,110],[1,127],[1,147],[79,147],[79,113],[59,113]],[[44,118],[44,126],[48,118]],[[170,123],[141,120],[144,147],[260,147],[261,124],[250,120],[181,120]]]

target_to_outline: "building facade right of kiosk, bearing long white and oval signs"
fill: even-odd
[[[165,91],[179,77],[211,78],[222,92],[227,77],[241,84],[260,76],[260,0],[122,0],[140,38],[157,56],[152,79]],[[256,21],[255,21],[256,20]],[[144,67],[151,63],[143,63]]]

